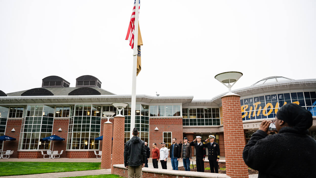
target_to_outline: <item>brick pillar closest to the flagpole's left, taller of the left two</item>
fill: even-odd
[[[124,122],[124,116],[114,117],[111,174],[114,174],[113,164],[124,164]]]

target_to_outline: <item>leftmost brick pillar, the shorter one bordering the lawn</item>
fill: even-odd
[[[111,154],[112,154],[112,122],[107,121],[103,125],[103,140],[102,140],[102,159],[101,168],[111,168]],[[123,141],[124,146],[124,141]]]

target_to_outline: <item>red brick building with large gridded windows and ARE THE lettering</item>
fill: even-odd
[[[0,150],[14,150],[11,157],[17,158],[40,158],[41,151],[52,148],[58,152],[64,150],[61,157],[95,157],[94,150],[102,150],[102,141],[94,138],[103,135],[103,123],[107,120],[102,112],[118,114],[113,102],[129,104],[121,113],[125,116],[126,142],[130,137],[131,95],[108,92],[101,84],[96,77],[84,75],[76,79],[76,87],[69,87],[70,83],[63,78],[49,76],[43,79],[40,88],[11,93],[0,91],[0,136],[16,138],[16,141],[0,141]],[[240,95],[246,142],[258,130],[262,119],[275,118],[278,108],[289,102],[313,114],[310,135],[315,138],[315,91],[316,79],[284,77],[269,77],[234,90]],[[192,141],[197,135],[207,139],[212,134],[220,144],[221,156],[225,156],[221,99],[225,94],[210,100],[193,100],[193,96],[137,95],[135,127],[149,145],[166,142],[168,147],[173,137],[179,143],[183,137]],[[114,127],[114,119],[110,121]],[[65,141],[42,140],[50,135],[58,135]]]

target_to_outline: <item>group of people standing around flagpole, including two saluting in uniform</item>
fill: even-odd
[[[148,160],[150,158],[150,148],[147,142],[143,142],[138,135],[138,130],[134,128],[133,137],[126,142],[124,148],[124,164],[128,168],[129,177],[141,177],[142,168],[148,167]],[[208,140],[210,140],[209,143]],[[190,171],[190,161],[192,149],[194,146],[196,149],[196,166],[198,172],[204,172],[204,159],[206,156],[206,149],[208,148],[208,159],[210,163],[210,170],[212,173],[218,173],[218,160],[220,155],[219,145],[214,142],[215,136],[210,135],[210,138],[201,142],[201,137],[197,136],[191,143],[188,143],[188,138],[183,138],[183,144],[176,143],[177,139],[172,139],[172,144],[169,150],[166,147],[166,143],[162,142],[161,149],[157,148],[157,144],[152,144],[152,162],[153,167],[158,168],[158,161],[161,163],[163,169],[167,169],[167,159],[170,157],[173,170],[178,170],[179,159],[182,159],[183,167],[185,171]],[[197,143],[195,143],[197,141]]]

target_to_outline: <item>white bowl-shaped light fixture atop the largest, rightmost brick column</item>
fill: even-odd
[[[230,95],[234,94],[232,93],[232,86],[236,83],[238,79],[240,79],[241,76],[241,72],[223,72],[215,75],[215,79],[228,88],[228,93],[226,95]]]

